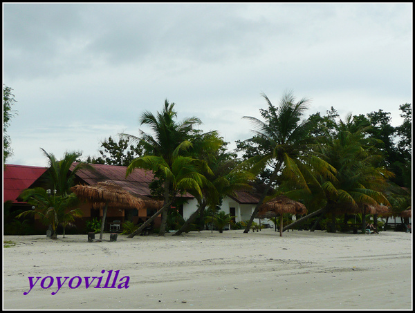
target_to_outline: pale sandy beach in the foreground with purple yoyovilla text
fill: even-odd
[[[109,236],[3,236],[3,310],[413,308],[412,234]]]

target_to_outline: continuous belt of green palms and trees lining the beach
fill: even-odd
[[[15,102],[10,91],[3,86],[3,162],[12,152],[6,135]],[[201,124],[198,117],[179,122],[175,104],[167,99],[156,114],[145,111],[140,115],[140,126],[148,126],[151,133],[120,134],[118,142],[109,137],[101,143],[104,150],[99,158],[79,162],[81,154],[73,152],[57,160],[42,149],[49,163],[43,189],[22,193],[33,209],[19,216],[36,214],[54,232],[59,224],[70,225],[79,216],[73,209],[76,197],[70,188],[76,172],[89,162],[127,166],[127,176],[138,168],[154,173],[151,192],[163,200],[163,207],[140,227],[125,224],[129,236],[140,233],[160,214],[160,236],[169,229],[176,231],[175,235],[201,230],[209,219],[212,227],[221,230],[223,222],[229,225],[232,220],[229,214],[216,211],[221,200],[250,189],[252,184],[263,190],[259,202],[249,220],[232,223],[232,227],[244,227],[245,233],[255,229],[261,204],[282,193],[308,209],[308,214],[295,222],[284,219],[284,230],[304,226],[312,231],[317,227],[336,231],[339,216],[356,212],[360,212],[363,228],[369,218],[362,209],[365,205],[387,205],[394,214],[411,208],[412,104],[400,106],[403,124],[394,127],[390,113],[382,110],[342,119],[331,107],[326,115],[306,117],[308,99],[297,101],[288,92],[275,106],[265,94],[262,97],[267,107],[259,111],[261,118],[243,117],[255,126],[252,137],[237,140],[234,151],[228,151],[228,142],[217,131],[197,130]],[[76,166],[70,171],[74,162]],[[198,202],[187,220],[172,209],[178,196],[185,193]]]

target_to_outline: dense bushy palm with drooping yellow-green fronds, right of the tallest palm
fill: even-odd
[[[356,211],[364,203],[389,205],[382,191],[387,187],[387,178],[393,176],[393,173],[377,166],[382,159],[382,155],[374,146],[378,140],[365,136],[367,129],[368,127],[357,128],[351,115],[347,115],[345,122],[340,120],[337,132],[334,135],[326,133],[326,139],[315,150],[320,158],[324,158],[336,170],[335,176],[321,183],[323,192],[320,196],[324,198],[326,205],[318,211],[322,213],[320,219],[329,212],[334,218],[339,207]],[[364,212],[362,216],[364,228]],[[289,227],[294,227],[297,222],[302,221],[304,218]],[[319,221],[317,220],[315,225]],[[335,231],[334,227],[332,229]]]

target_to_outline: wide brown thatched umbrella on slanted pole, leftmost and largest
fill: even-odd
[[[71,191],[76,193],[80,199],[105,203],[104,211],[102,212],[100,240],[102,240],[102,234],[104,233],[108,205],[115,207],[136,207],[137,209],[145,206],[144,201],[132,196],[131,193],[125,191],[113,182],[104,181],[94,185],[77,184],[71,187]]]

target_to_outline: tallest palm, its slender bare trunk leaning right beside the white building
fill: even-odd
[[[276,108],[266,95],[263,95],[268,103],[268,110],[261,111],[265,122],[256,117],[244,117],[257,126],[256,135],[249,142],[261,146],[264,155],[256,155],[246,163],[254,164],[254,171],[271,169],[271,176],[266,188],[259,199],[252,216],[246,225],[245,233],[250,230],[259,206],[264,202],[267,193],[276,181],[281,184],[284,180],[295,182],[297,187],[309,190],[309,184],[319,185],[315,178],[316,173],[331,176],[333,167],[311,152],[313,138],[310,136],[313,124],[309,121],[301,121],[301,117],[307,108],[308,100],[301,99],[295,102],[292,93],[286,93]]]

